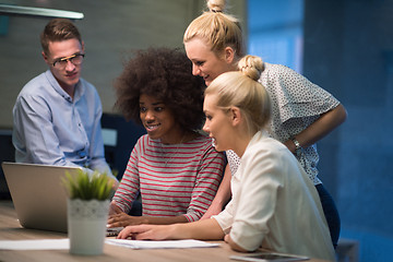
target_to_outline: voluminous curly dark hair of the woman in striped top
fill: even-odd
[[[180,49],[138,50],[115,81],[115,108],[126,120],[142,124],[139,99],[144,94],[163,100],[184,130],[200,129],[204,120],[205,85],[191,72],[192,63]]]

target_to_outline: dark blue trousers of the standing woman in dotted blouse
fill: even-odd
[[[327,190],[323,187],[322,183],[317,184],[315,188],[321,199],[321,204],[327,222],[333,247],[336,248],[341,230],[341,221],[337,207],[334,203],[332,195],[327,192]]]

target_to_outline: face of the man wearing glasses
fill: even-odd
[[[62,41],[49,41],[48,50],[49,52],[47,55],[43,52],[44,60],[49,66],[50,71],[60,86],[66,92],[73,93],[73,88],[81,78],[82,64],[75,66],[71,61],[68,61],[66,68],[58,69],[53,67],[53,62],[60,58],[83,53],[83,43],[81,44],[76,38]]]

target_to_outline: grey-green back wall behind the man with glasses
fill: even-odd
[[[187,25],[205,7],[203,0],[3,0],[35,8],[84,13],[75,21],[85,41],[83,78],[112,112],[112,81],[134,49],[150,46],[182,48]],[[230,12],[246,17],[246,0],[229,1]],[[48,19],[10,16],[0,20],[0,129],[12,128],[12,107],[22,86],[47,69],[40,56],[39,33]],[[245,26],[246,27],[246,26]]]

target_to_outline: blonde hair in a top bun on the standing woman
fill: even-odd
[[[218,57],[226,47],[231,47],[236,56],[245,55],[245,44],[239,21],[229,14],[225,14],[225,0],[207,0],[209,12],[204,12],[194,19],[187,27],[183,43],[194,37],[201,37],[212,47],[212,51]]]

